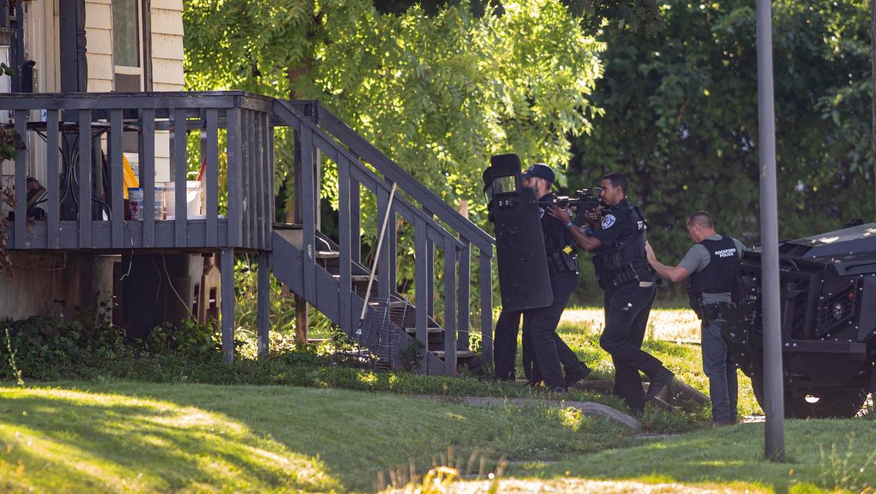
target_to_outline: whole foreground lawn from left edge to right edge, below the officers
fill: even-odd
[[[370,491],[378,471],[413,461],[421,475],[448,462],[449,448],[450,463],[505,456],[503,478],[570,491],[593,480],[621,481],[621,491],[876,485],[876,427],[865,419],[789,421],[789,462],[775,464],[763,460],[761,424],[646,439],[537,403],[477,408],[289,386],[3,387],[0,416],[0,490],[11,492]]]

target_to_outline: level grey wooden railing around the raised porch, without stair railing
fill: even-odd
[[[273,219],[272,99],[230,92],[15,94],[0,98],[0,110],[11,110],[12,124],[25,142],[46,140],[45,221],[27,217],[25,194],[18,193],[11,237],[14,249],[131,249],[271,247]],[[156,131],[170,131],[171,177],[176,219],[157,218],[155,209],[141,209],[142,220],[125,221],[123,199],[123,135],[136,132],[139,186],[146,205],[155,201]],[[188,132],[202,132],[204,163],[201,190],[203,217],[187,215]],[[223,149],[220,149],[224,134]],[[93,153],[103,159],[93,166]],[[97,136],[97,137],[95,137]],[[67,142],[65,142],[67,141]],[[15,190],[25,191],[32,176],[29,153],[18,151]],[[219,183],[220,152],[227,156],[227,174]],[[98,173],[108,170],[107,176]],[[97,173],[95,173],[97,172]],[[67,183],[65,183],[65,180]],[[107,183],[106,190],[95,194]],[[66,193],[66,194],[65,194]],[[224,197],[220,198],[220,193]],[[67,198],[62,197],[67,195]],[[72,202],[62,215],[62,201]],[[220,215],[220,199],[227,214]],[[99,204],[93,208],[92,204]]]

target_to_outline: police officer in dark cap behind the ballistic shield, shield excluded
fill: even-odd
[[[532,188],[539,202],[553,201],[556,198],[550,192],[554,180],[554,170],[541,163],[530,166],[523,173],[523,186]],[[575,352],[556,334],[562,311],[578,283],[578,265],[569,231],[562,222],[545,214],[546,207],[541,206],[539,214],[554,301],[548,307],[530,309],[523,314],[523,342],[525,345],[532,345],[532,351],[527,351],[525,347],[524,353],[534,357],[526,378],[530,382],[543,378],[549,391],[565,392],[569,385],[587,377],[590,368],[579,361]],[[520,267],[526,269],[526,266]],[[518,324],[519,314],[503,311],[499,315],[493,338],[497,378],[512,378],[513,362],[517,354]],[[561,371],[561,363],[565,367],[565,377]]]

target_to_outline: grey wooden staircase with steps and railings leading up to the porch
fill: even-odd
[[[389,224],[399,220],[413,226],[413,300],[397,292],[399,234],[386,229],[378,256],[378,272],[371,286],[369,311],[383,304],[392,324],[392,351],[371,352],[398,368],[411,347],[419,354],[420,371],[456,373],[458,364],[491,363],[493,238],[455,208],[393,163],[362,136],[317,102],[274,100],[272,123],[294,131],[295,197],[299,224],[272,225],[269,265],[275,277],[334,321],[351,336],[357,335],[359,314],[371,272],[362,259],[362,194],[373,194],[378,217],[389,210]],[[338,187],[338,236],[323,235],[316,212],[320,210],[318,177],[320,157],[336,165]],[[390,201],[392,184],[398,187]],[[314,186],[315,184],[315,186]],[[373,237],[377,231],[371,232]],[[408,231],[408,235],[410,232]],[[372,237],[370,236],[370,237]],[[408,238],[408,241],[412,240]],[[482,352],[470,349],[472,252],[477,249],[477,300],[479,301]],[[439,256],[440,254],[440,256]],[[442,283],[435,283],[435,260]],[[440,285],[440,286],[436,286]],[[440,300],[442,314],[434,314]],[[366,315],[366,321],[369,316]],[[439,321],[441,323],[439,323]],[[363,328],[371,331],[371,328]],[[366,346],[371,334],[360,335]],[[380,340],[384,341],[384,340]],[[372,345],[373,346],[373,345]]]

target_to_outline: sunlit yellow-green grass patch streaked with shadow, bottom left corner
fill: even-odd
[[[318,460],[220,414],[66,390],[4,390],[0,396],[0,487],[5,490],[339,487]]]

